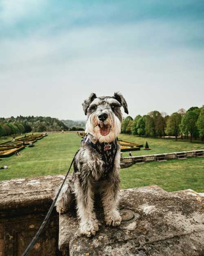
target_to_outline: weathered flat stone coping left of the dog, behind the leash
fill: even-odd
[[[64,175],[47,175],[0,181],[0,217],[7,216],[8,212],[22,215],[23,208],[27,209],[27,213],[31,208],[33,213],[33,208],[51,204],[55,190],[63,179]],[[47,207],[45,209],[47,211]]]

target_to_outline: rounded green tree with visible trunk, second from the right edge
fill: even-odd
[[[198,114],[197,111],[195,111],[195,109],[193,109],[193,111],[187,111],[186,115],[183,117],[183,125],[191,135],[191,142],[193,135],[195,135],[195,133],[197,132],[197,119]]]

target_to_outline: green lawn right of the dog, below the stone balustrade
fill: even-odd
[[[191,188],[204,192],[204,157],[135,164],[120,170],[121,188],[149,185],[166,191]]]

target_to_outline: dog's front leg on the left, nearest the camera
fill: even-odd
[[[94,195],[91,184],[87,179],[84,180],[82,185],[78,183],[77,188],[75,188],[75,194],[77,199],[77,213],[80,219],[80,234],[90,237],[91,235],[95,235],[95,231],[98,231],[98,220],[93,211]]]

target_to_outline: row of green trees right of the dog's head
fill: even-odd
[[[147,115],[137,115],[135,119],[127,116],[122,121],[122,133],[139,136],[204,139],[204,106],[180,109],[170,116],[165,112],[151,111]]]

